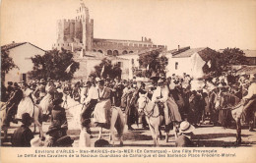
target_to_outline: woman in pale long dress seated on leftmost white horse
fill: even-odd
[[[33,113],[33,101],[32,101],[32,89],[27,83],[23,83],[23,99],[18,105],[17,118],[21,119],[24,113],[29,113],[32,117]]]

